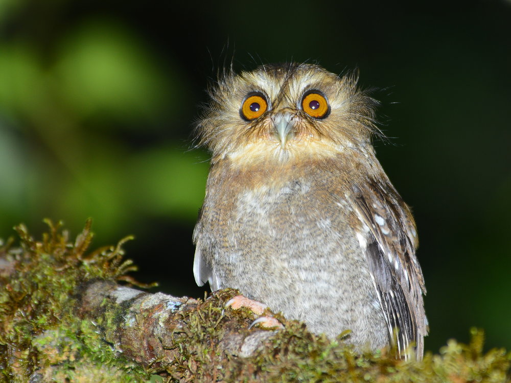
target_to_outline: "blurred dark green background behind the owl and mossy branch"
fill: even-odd
[[[125,248],[138,279],[195,286],[204,89],[277,61],[360,69],[379,158],[413,208],[438,350],[470,326],[511,348],[511,3],[0,0],[0,236],[43,217]]]

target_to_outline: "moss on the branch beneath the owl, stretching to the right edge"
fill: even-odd
[[[223,311],[225,301],[234,294],[233,290],[216,292],[196,312],[184,318],[188,327],[173,337],[182,357],[168,368],[175,381],[511,381],[511,354],[504,349],[483,353],[484,335],[478,329],[471,330],[470,344],[450,340],[439,354],[427,353],[423,361],[417,362],[396,360],[393,351],[385,349],[361,355],[343,342],[347,333],[332,342],[311,334],[299,322],[280,317],[285,329],[267,340],[261,352],[248,358],[225,354],[214,340],[227,329],[216,324],[235,319],[235,326],[243,327],[252,320],[245,310]]]

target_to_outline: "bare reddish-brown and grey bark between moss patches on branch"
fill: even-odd
[[[222,327],[217,337],[207,341],[227,354],[249,357],[263,346],[275,331],[248,329],[249,312],[228,315],[219,308],[236,293],[224,290],[202,301],[93,281],[84,286],[79,314],[94,323],[113,324],[109,328],[98,325],[98,331],[115,352],[153,372],[162,372],[180,357],[182,342],[203,335],[203,326]]]

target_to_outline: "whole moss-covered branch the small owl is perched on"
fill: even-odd
[[[511,354],[449,341],[424,361],[391,350],[357,354],[278,316],[285,329],[249,328],[252,314],[224,309],[237,294],[205,300],[149,294],[128,272],[122,240],[87,253],[90,221],[74,243],[61,224],[35,241],[18,226],[20,247],[0,249],[0,379],[36,381],[503,382]],[[124,283],[124,285],[119,284]]]

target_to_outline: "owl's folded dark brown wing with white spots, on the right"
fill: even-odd
[[[411,212],[389,182],[372,180],[354,192],[364,232],[361,245],[365,245],[391,344],[408,358],[405,351],[413,343],[417,358],[422,358],[427,334],[422,294],[426,289],[415,257],[418,242]]]

